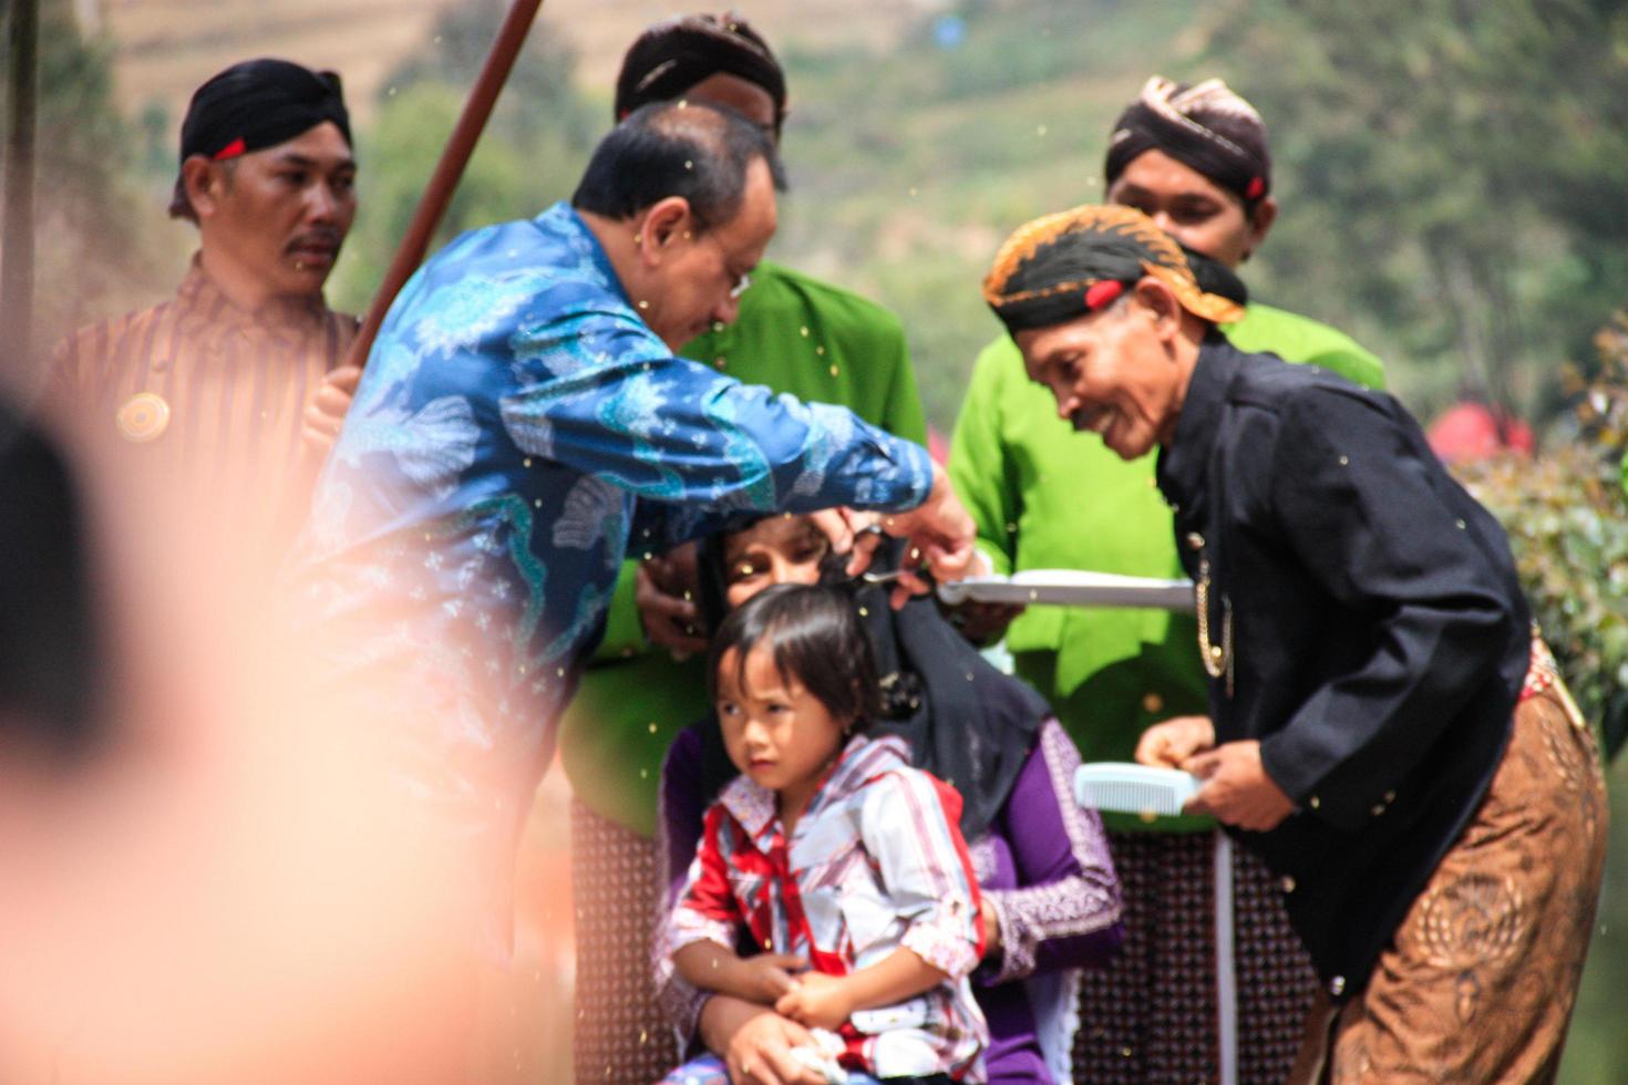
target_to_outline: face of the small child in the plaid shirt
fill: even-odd
[[[744,682],[742,682],[744,678]],[[773,649],[729,649],[718,660],[718,724],[734,766],[780,794],[781,817],[803,813],[842,753],[848,721],[835,719],[796,675],[775,667]]]

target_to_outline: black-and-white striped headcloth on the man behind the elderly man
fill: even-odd
[[[1267,125],[1221,80],[1187,86],[1153,76],[1114,122],[1105,174],[1109,187],[1125,166],[1159,150],[1254,205],[1271,192]]]

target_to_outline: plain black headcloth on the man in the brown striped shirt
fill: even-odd
[[[332,120],[350,143],[339,75],[288,60],[234,63],[192,93],[181,122],[181,161],[225,159],[277,146]]]

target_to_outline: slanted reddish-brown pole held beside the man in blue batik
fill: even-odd
[[[436,163],[435,172],[430,176],[430,184],[425,187],[423,197],[418,198],[418,210],[414,211],[407,234],[396,249],[396,257],[391,260],[389,270],[384,272],[384,281],[379,283],[379,291],[373,296],[373,304],[368,306],[368,312],[361,319],[361,329],[357,332],[357,338],[350,345],[350,353],[345,356],[347,364],[366,364],[368,351],[373,350],[373,340],[379,333],[379,325],[384,324],[384,314],[389,312],[396,294],[400,293],[400,288],[407,285],[412,273],[418,270],[418,264],[423,262],[423,254],[430,247],[430,237],[446,213],[446,205],[453,200],[457,181],[464,176],[469,156],[475,151],[475,143],[480,140],[480,133],[492,117],[492,107],[497,104],[503,83],[508,81],[514,59],[519,55],[521,46],[526,44],[526,33],[537,18],[540,7],[542,0],[514,0],[503,18],[503,26],[492,44],[492,52],[487,54],[480,76],[475,80],[475,86],[469,91],[469,99],[464,102],[464,112],[457,117],[457,125],[446,142],[446,150],[441,151],[441,161]]]

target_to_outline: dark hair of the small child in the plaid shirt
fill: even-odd
[[[707,657],[707,691],[718,699],[718,670],[734,651],[736,685],[746,682],[746,657],[770,647],[783,680],[796,678],[834,719],[864,727],[882,712],[869,636],[853,595],[830,584],[775,584],[724,617]]]

